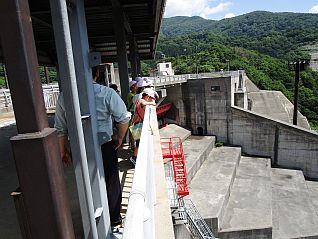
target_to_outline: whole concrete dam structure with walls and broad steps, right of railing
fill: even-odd
[[[184,139],[188,197],[216,237],[318,238],[318,134],[300,113],[299,126],[290,124],[286,97],[260,91],[242,72],[166,91],[170,116],[189,131],[160,135]]]

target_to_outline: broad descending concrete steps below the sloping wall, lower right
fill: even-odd
[[[221,239],[318,239],[318,182],[270,159],[213,148],[190,183],[194,205]]]

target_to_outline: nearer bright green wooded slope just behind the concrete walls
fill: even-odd
[[[197,54],[170,57],[166,60],[172,62],[176,74],[186,74],[195,72],[196,66],[199,72],[227,69],[227,59],[231,59],[230,70],[244,69],[260,89],[282,91],[293,101],[294,71],[282,59],[243,48],[211,44]],[[318,73],[306,68],[301,73],[299,104],[300,111],[314,128],[318,126],[317,92]]]

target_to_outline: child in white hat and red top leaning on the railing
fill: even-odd
[[[136,102],[135,107],[135,115],[133,117],[132,123],[138,124],[144,120],[145,117],[145,109],[147,105],[156,106],[155,100],[158,99],[159,96],[156,91],[151,88],[145,88],[141,92],[141,99]],[[140,140],[136,140],[136,147],[134,150],[134,155],[130,157],[130,161],[133,164],[136,164],[137,154],[138,154],[138,147],[139,147]]]

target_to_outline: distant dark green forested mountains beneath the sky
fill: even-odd
[[[160,37],[159,49],[170,56],[220,43],[286,60],[308,58],[303,47],[318,43],[318,14],[258,11],[220,21],[166,18]]]

